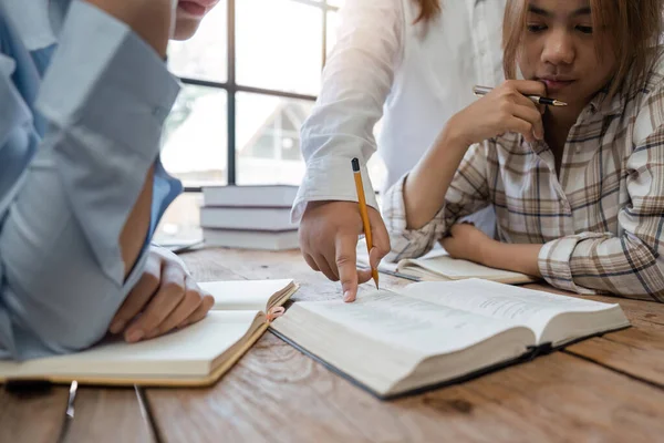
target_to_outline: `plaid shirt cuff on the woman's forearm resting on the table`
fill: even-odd
[[[556,288],[582,295],[598,293],[574,282],[571,261],[574,249],[580,241],[603,237],[605,237],[603,234],[583,233],[546,243],[538,256],[540,274],[549,285]]]

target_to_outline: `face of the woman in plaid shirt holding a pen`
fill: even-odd
[[[518,55],[526,79],[547,85],[548,95],[578,112],[611,80],[616,59],[609,44],[598,54],[605,30],[593,29],[589,0],[530,0]]]

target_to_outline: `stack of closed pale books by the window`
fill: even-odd
[[[200,208],[208,246],[240,249],[297,249],[298,225],[290,220],[297,186],[207,186]]]

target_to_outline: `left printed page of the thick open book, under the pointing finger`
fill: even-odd
[[[425,356],[461,350],[513,327],[510,321],[387,290],[360,293],[353,303],[332,300],[298,302],[298,306],[374,340]],[[523,329],[523,333],[533,343],[532,332]]]

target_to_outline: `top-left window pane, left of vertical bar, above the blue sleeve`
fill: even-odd
[[[179,76],[226,82],[226,0],[221,0],[191,39],[168,45],[169,69]]]

